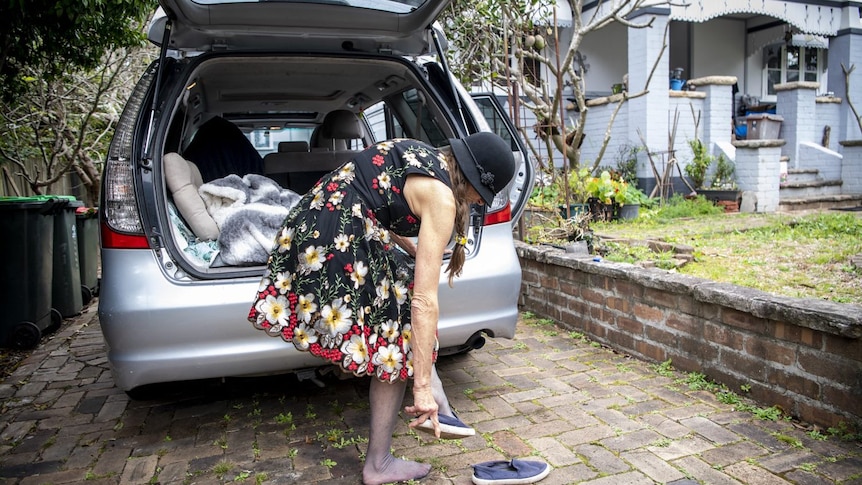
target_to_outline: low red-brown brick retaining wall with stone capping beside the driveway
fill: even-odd
[[[862,423],[862,307],[774,296],[516,241],[519,304],[821,426]],[[742,393],[741,385],[751,386]]]

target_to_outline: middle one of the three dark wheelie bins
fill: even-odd
[[[78,261],[78,224],[75,210],[84,203],[72,196],[54,196],[54,267],[51,306],[64,317],[81,313],[81,265]]]

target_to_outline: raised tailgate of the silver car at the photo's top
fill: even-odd
[[[386,52],[421,55],[450,0],[159,0],[150,40],[171,49]]]

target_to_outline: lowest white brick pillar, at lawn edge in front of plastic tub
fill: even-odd
[[[742,191],[740,212],[775,212],[780,190],[784,140],[737,140],[736,184]]]

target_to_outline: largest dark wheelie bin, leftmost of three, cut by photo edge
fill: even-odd
[[[62,204],[53,197],[0,197],[0,345],[35,347],[42,332],[59,327],[62,316],[51,307],[54,214]]]

